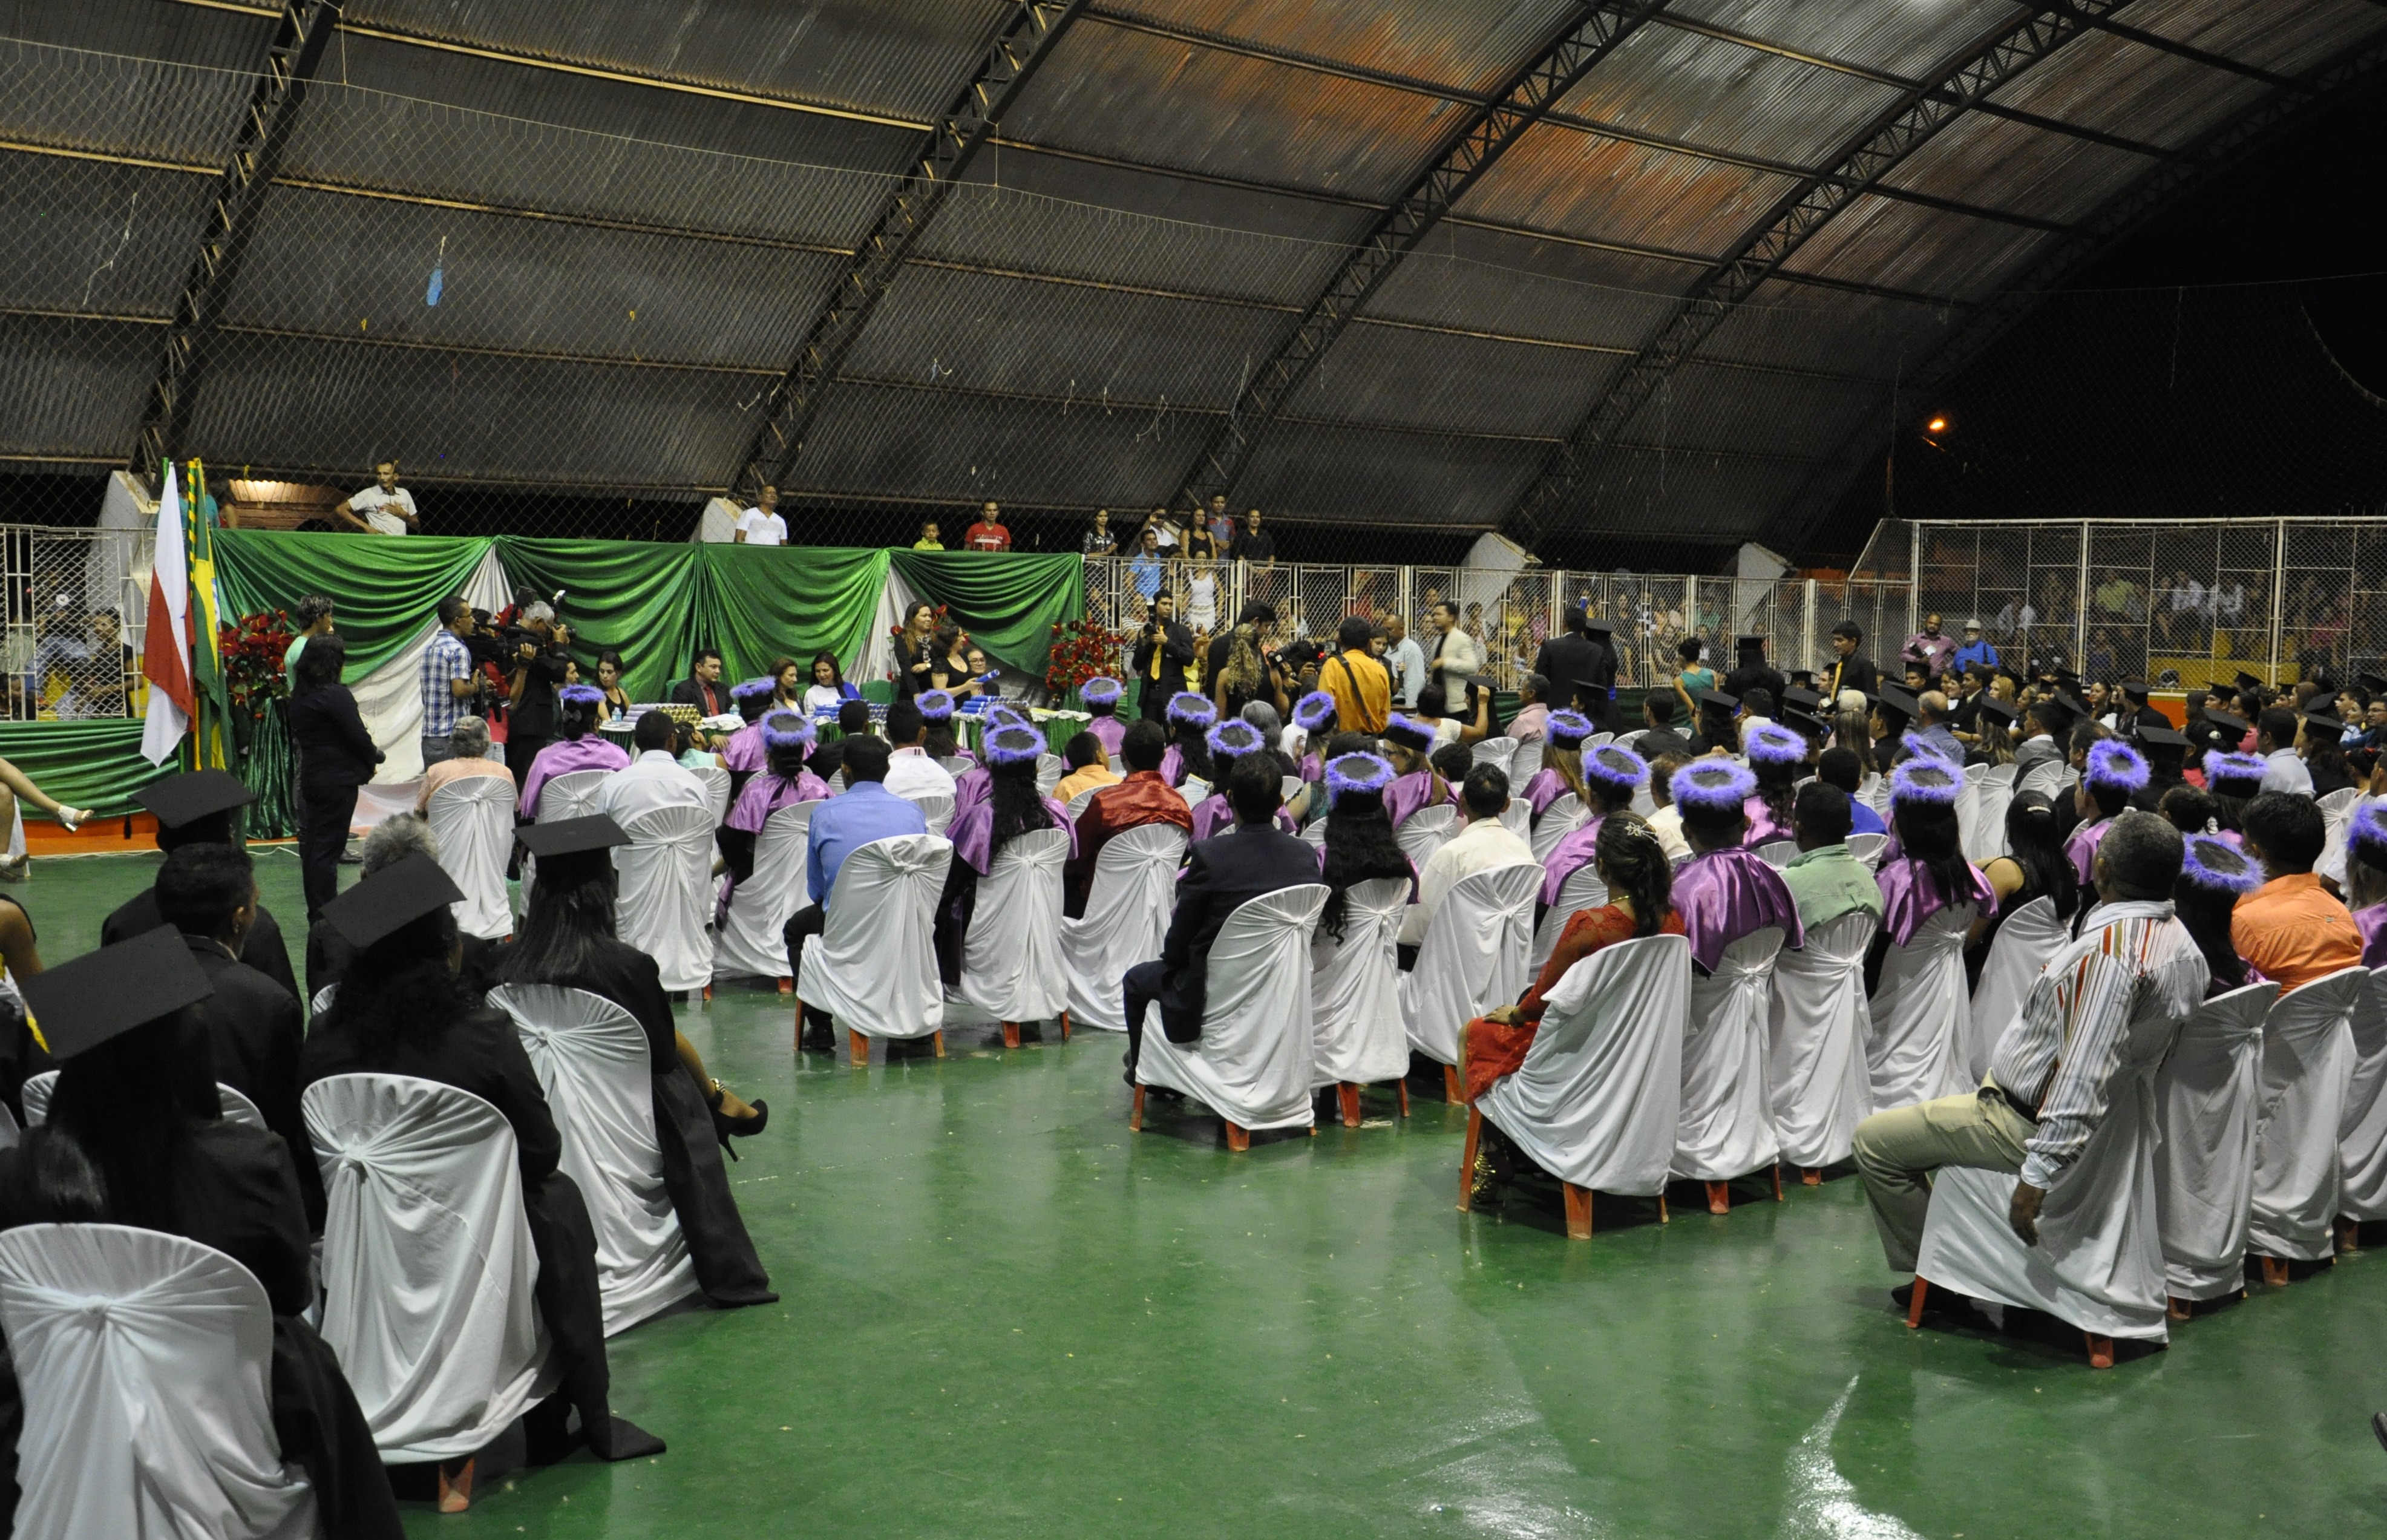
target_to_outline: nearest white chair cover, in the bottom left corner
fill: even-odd
[[[241,1263],[127,1225],[0,1234],[24,1394],[17,1533],[310,1540],[315,1492],[272,1416],[275,1316]]]

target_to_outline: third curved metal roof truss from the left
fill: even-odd
[[[1227,413],[1227,420],[1186,470],[1177,492],[1179,501],[1201,506],[1215,492],[1234,485],[1260,435],[1267,432],[1270,418],[1308,380],[1310,368],[1334,344],[1344,325],[1415,251],[1418,241],[1475,186],[1478,177],[1492,170],[1509,146],[1542,122],[1575,81],[1664,5],[1666,0],[1587,0],[1575,5],[1566,26],[1509,76],[1489,105],[1444,141],[1435,162],[1351,248],[1344,265],[1301,315],[1301,325],[1248,377],[1234,411]]]

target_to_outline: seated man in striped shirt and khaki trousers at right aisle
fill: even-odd
[[[2177,1024],[2203,1000],[2206,960],[2172,912],[2179,855],[2179,831],[2163,819],[2117,819],[2096,852],[2101,907],[2031,984],[1981,1089],[1857,1125],[1864,1201],[1893,1270],[1914,1270],[1931,1172],[1943,1165],[2019,1172],[2007,1222],[2024,1244],[2038,1242],[2038,1203],[2103,1122],[2105,1082],[2132,1022],[2153,1015]],[[1900,1308],[1912,1292],[1893,1292]],[[1943,1294],[1924,1294],[1924,1308],[1962,1306]]]

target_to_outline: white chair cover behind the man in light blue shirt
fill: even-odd
[[[945,1024],[936,974],[936,900],[952,843],[933,833],[871,840],[838,867],[828,924],[804,943],[795,996],[838,1031],[929,1036]]]

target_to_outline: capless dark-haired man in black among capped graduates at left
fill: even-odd
[[[236,845],[184,845],[158,871],[158,912],[181,931],[215,996],[193,1012],[208,1027],[220,1084],[258,1103],[265,1127],[291,1148],[308,1227],[322,1227],[322,1172],[298,1110],[298,996],[239,960],[258,919],[258,874]]]

